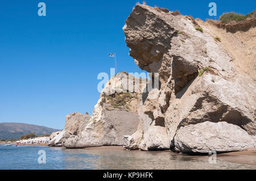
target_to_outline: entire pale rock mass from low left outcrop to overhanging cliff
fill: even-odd
[[[123,31],[130,56],[152,77],[110,78],[92,116],[68,115],[49,145],[183,153],[255,146],[255,81],[237,71],[230,51],[201,20],[137,5]]]

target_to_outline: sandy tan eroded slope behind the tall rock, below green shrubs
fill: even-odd
[[[221,41],[218,44],[232,56],[236,70],[240,74],[250,75],[256,81],[256,18],[229,24],[215,20],[199,21],[199,24],[205,26],[211,36],[220,37]]]

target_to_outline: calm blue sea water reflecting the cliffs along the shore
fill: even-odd
[[[39,150],[46,163],[38,163]],[[224,162],[210,164],[207,156],[171,151],[121,149],[65,149],[48,146],[0,146],[0,169],[256,169],[256,166]]]

